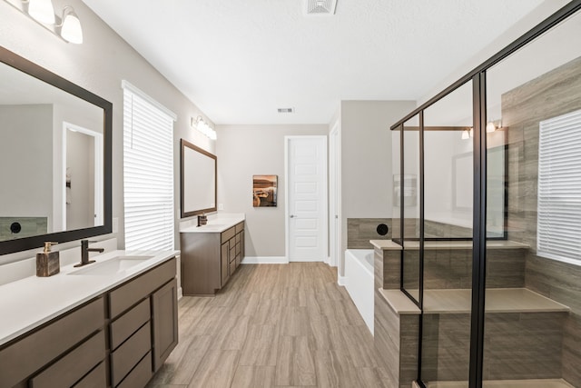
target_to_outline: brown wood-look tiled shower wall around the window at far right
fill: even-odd
[[[536,254],[538,123],[578,109],[581,58],[502,95],[503,125],[509,128],[508,238],[530,245],[526,287],[571,308],[564,323],[562,375],[581,387],[581,266]]]

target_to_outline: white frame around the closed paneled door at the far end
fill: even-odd
[[[322,219],[327,221],[322,224],[322,231],[320,235],[320,243],[322,246],[325,247],[326,254],[322,258],[322,262],[325,263],[328,256],[329,256],[329,160],[328,160],[328,141],[327,141],[326,134],[307,134],[307,135],[288,135],[284,136],[284,246],[285,246],[285,255],[287,259],[287,263],[291,262],[291,201],[290,201],[290,194],[291,190],[289,189],[289,145],[291,144],[291,140],[293,139],[320,139],[323,142],[323,162],[325,164],[325,179],[324,184],[322,185],[323,188],[323,199],[324,204],[322,207],[323,214]]]

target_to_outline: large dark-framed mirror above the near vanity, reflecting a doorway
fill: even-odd
[[[113,104],[0,47],[0,254],[112,232]]]

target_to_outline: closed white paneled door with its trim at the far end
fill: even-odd
[[[285,137],[287,257],[322,262],[327,257],[327,137]]]

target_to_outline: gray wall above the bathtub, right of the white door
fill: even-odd
[[[341,132],[341,242],[347,248],[348,218],[390,218],[389,126],[416,107],[414,101],[343,101]],[[343,260],[339,264],[343,272]]]

